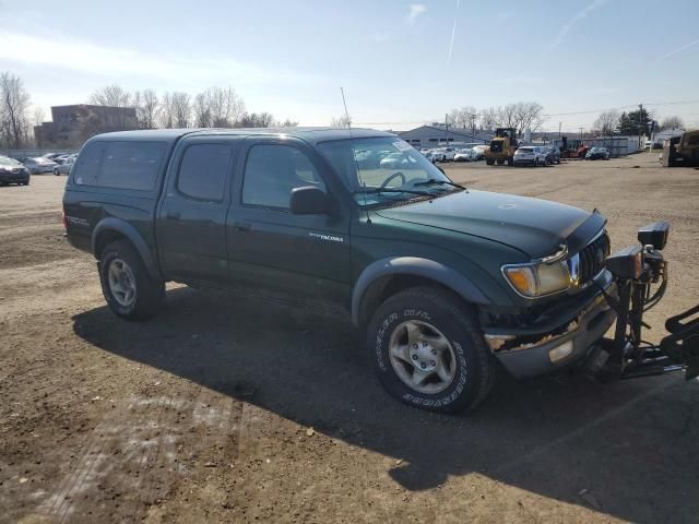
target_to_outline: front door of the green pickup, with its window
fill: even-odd
[[[317,154],[289,139],[248,139],[244,150],[228,218],[232,281],[293,296],[346,300],[350,211],[337,203],[328,215],[289,213],[294,188],[316,186],[332,194]]]

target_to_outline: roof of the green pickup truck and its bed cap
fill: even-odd
[[[143,131],[117,131],[93,136],[92,140],[109,141],[139,141],[157,140],[162,142],[176,142],[185,135],[268,135],[292,136],[301,139],[308,143],[317,144],[329,140],[363,139],[369,136],[395,136],[393,133],[377,131],[374,129],[339,129],[339,128],[234,128],[234,129],[151,129]]]

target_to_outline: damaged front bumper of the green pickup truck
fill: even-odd
[[[606,293],[616,296],[616,286],[609,283]],[[495,357],[516,378],[547,374],[573,366],[593,350],[616,320],[616,312],[599,293],[576,317],[565,318],[555,329],[523,336],[516,333],[486,333],[486,342]],[[499,346],[499,347],[498,347]],[[552,350],[566,348],[565,357],[552,360]],[[555,352],[556,353],[556,352]]]

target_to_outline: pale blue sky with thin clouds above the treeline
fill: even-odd
[[[640,103],[699,127],[697,21],[697,0],[0,0],[0,71],[47,116],[117,83],[230,85],[305,126],[343,115],[343,87],[353,123],[377,129],[521,100],[546,130]]]

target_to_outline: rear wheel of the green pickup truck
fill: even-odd
[[[99,282],[107,305],[127,320],[154,317],[165,300],[165,283],[153,278],[127,240],[108,245],[99,260]]]

